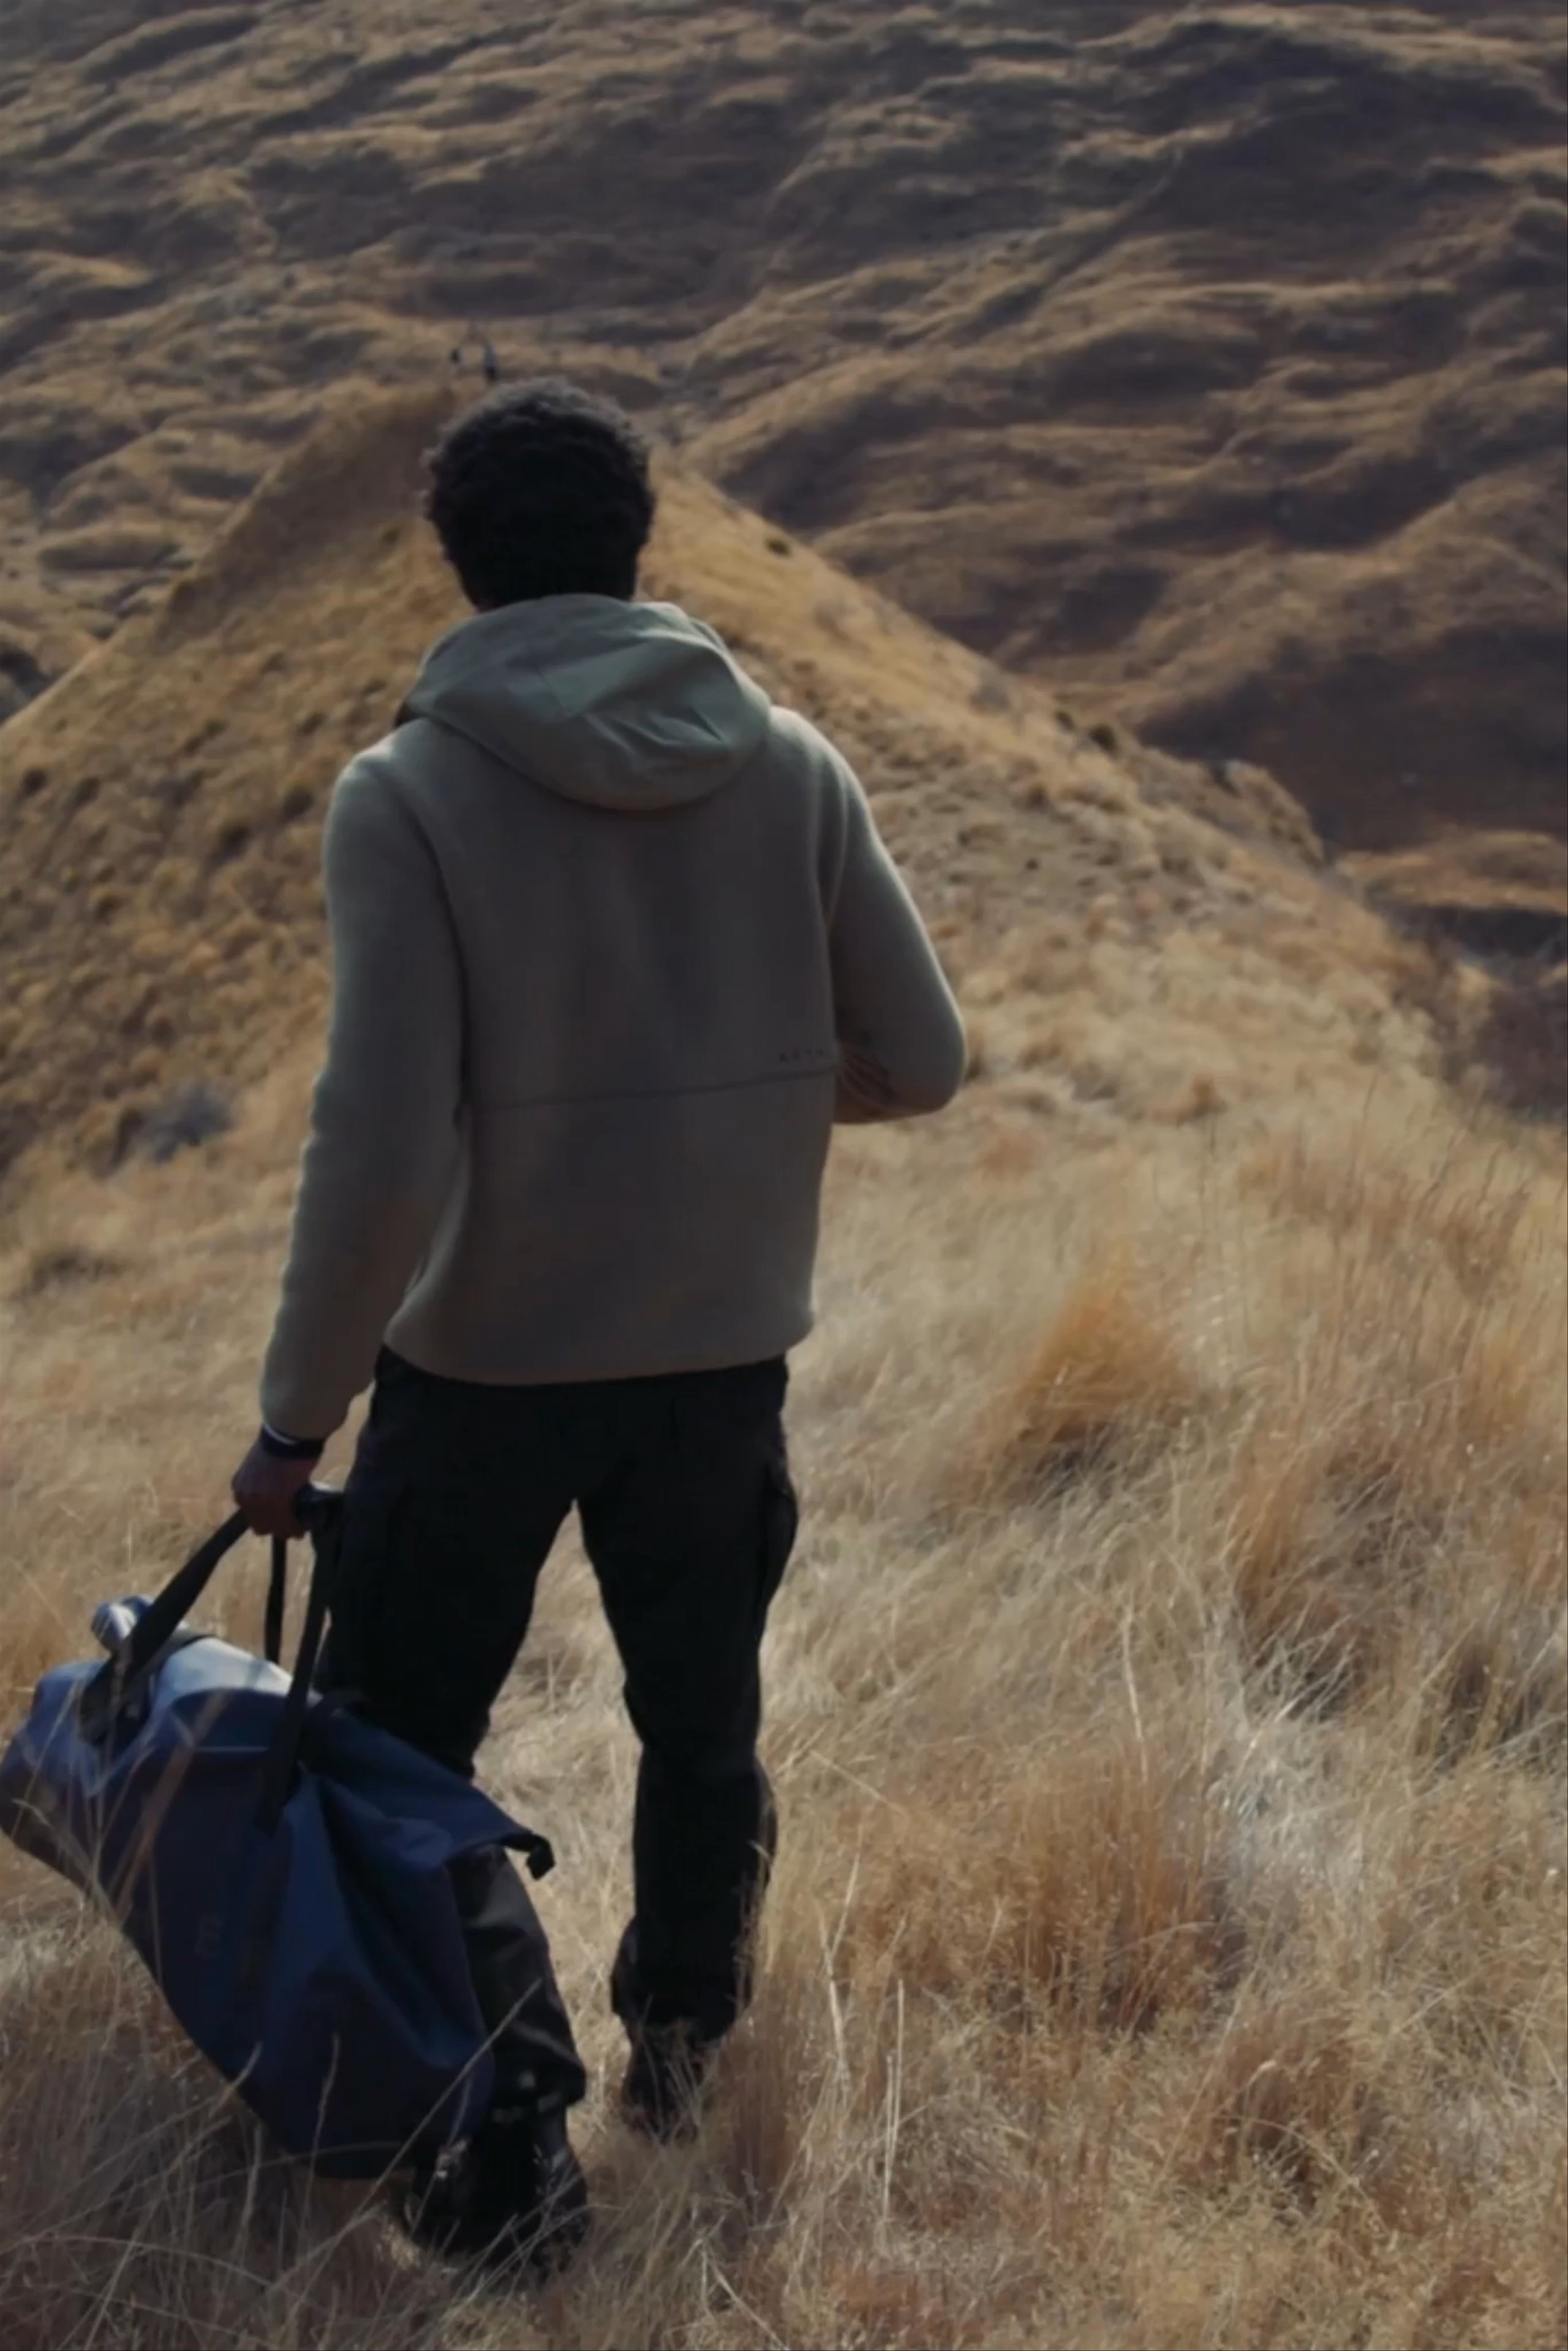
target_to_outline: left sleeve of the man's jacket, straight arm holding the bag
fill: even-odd
[[[435,853],[369,759],[322,844],[331,1030],[315,1086],[261,1415],[329,1436],[440,1220],[458,1157],[463,978]]]

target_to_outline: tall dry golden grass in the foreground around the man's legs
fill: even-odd
[[[306,1074],[12,1208],[7,1709],[221,1509]],[[827,1234],[783,1864],[698,2146],[604,2102],[632,1742],[564,1542],[484,1770],[562,1853],[581,2271],[510,2299],[270,2161],[9,1857],[7,2344],[1563,2342],[1561,1147],[1413,1072],[1110,1131],[978,1079],[846,1143]]]

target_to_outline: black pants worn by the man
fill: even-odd
[[[383,1352],[348,1479],[322,1683],[473,1773],[567,1512],[642,1740],[628,2022],[726,2031],[773,1850],[757,1653],[795,1542],[783,1361],[656,1380],[480,1387]],[[496,2102],[583,2095],[543,1925],[510,1857],[454,1871]]]

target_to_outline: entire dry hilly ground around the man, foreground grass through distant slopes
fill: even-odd
[[[663,428],[644,590],[844,745],[971,1027],[835,1147],[701,2139],[614,2121],[571,1535],[482,1773],[562,1860],[576,2273],[277,2163],[0,1846],[7,2351],[1561,2351],[1563,971],[1476,962],[1568,907],[1549,12],[0,26],[0,1730],[254,1425],[454,322]]]

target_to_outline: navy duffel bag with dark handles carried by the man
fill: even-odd
[[[543,1836],[310,1686],[341,1498],[308,1488],[315,1566],[294,1674],[183,1629],[233,1516],[155,1601],[99,1608],[108,1662],[45,1674],[0,1759],[0,1829],[110,1904],[197,2048],[275,2139],[339,2177],[430,2161],[491,2097],[449,1864]]]

